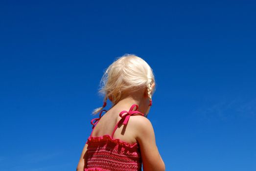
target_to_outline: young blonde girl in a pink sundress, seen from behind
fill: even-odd
[[[143,171],[165,171],[154,129],[146,118],[155,91],[151,67],[126,54],[108,67],[101,83],[104,103],[93,111],[100,112],[99,118],[91,121],[93,131],[76,171],[141,171],[142,166]],[[102,110],[107,98],[112,107]]]

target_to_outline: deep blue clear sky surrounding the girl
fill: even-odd
[[[148,117],[166,171],[256,171],[255,9],[255,0],[2,0],[0,170],[74,171],[103,70],[132,53],[155,73]]]

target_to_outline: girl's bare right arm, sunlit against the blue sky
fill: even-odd
[[[151,122],[146,117],[140,117],[137,130],[136,139],[140,145],[143,171],[165,171],[165,165],[156,145]]]

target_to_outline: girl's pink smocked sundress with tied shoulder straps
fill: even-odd
[[[133,108],[136,107],[135,110]],[[120,139],[113,139],[116,128],[121,124],[127,125],[130,116],[142,115],[137,111],[138,105],[132,105],[129,111],[121,111],[121,119],[117,122],[112,135],[109,134],[92,137],[92,133],[87,140],[86,160],[87,166],[84,171],[141,171],[141,155],[138,143],[126,143]],[[102,110],[107,111],[107,110]],[[95,118],[91,121],[94,126],[101,118]]]

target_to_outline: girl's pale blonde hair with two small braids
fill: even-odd
[[[107,102],[108,97],[111,97],[113,105],[116,105],[122,92],[133,92],[147,87],[148,97],[151,100],[156,89],[152,90],[153,83],[155,83],[155,77],[152,68],[142,58],[133,54],[124,54],[117,57],[104,71],[98,92],[105,95],[104,103]],[[93,114],[98,113],[104,107],[103,105],[94,109]]]

